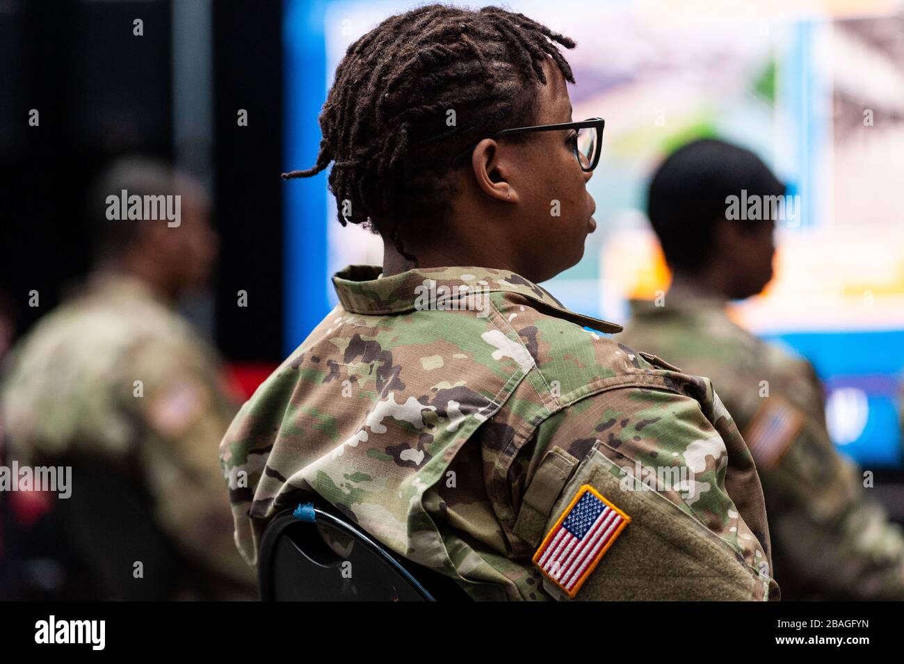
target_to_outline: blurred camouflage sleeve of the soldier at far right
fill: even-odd
[[[904,600],[899,526],[866,499],[860,470],[837,452],[823,416],[775,397],[770,402],[748,427],[752,440],[759,437],[758,422],[769,413],[777,417],[781,408],[798,422],[786,429],[787,441],[776,436],[778,454],[758,455],[772,535],[781,552],[778,574],[795,578],[803,592],[818,588],[850,599]]]

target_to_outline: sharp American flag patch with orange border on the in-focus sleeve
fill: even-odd
[[[584,484],[533,555],[533,564],[574,597],[631,517]]]

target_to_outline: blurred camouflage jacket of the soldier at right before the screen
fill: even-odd
[[[673,289],[664,306],[635,302],[621,338],[719,390],[757,462],[786,598],[904,599],[904,538],[833,445],[813,367],[741,329],[724,306]]]

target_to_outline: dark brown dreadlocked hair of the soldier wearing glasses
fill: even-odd
[[[315,165],[282,177],[311,177],[332,162],[328,182],[339,222],[382,232],[417,265],[403,247],[401,225],[444,220],[455,192],[442,176],[452,157],[500,129],[532,123],[529,84],[546,85],[547,56],[574,83],[556,43],[575,47],[499,7],[426,5],[391,16],[349,46],[336,68],[319,116]],[[455,111],[453,126],[448,110]],[[391,228],[377,228],[374,219]]]

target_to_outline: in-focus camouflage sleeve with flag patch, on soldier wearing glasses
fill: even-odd
[[[551,594],[777,597],[755,468],[711,384],[697,380],[702,400],[660,388],[617,388],[539,427],[537,450],[558,449],[579,462],[533,557]],[[532,463],[525,497],[542,478],[542,465]]]

